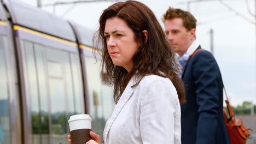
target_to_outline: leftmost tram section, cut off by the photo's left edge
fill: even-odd
[[[19,85],[12,41],[12,28],[0,3],[0,143],[20,144]]]

